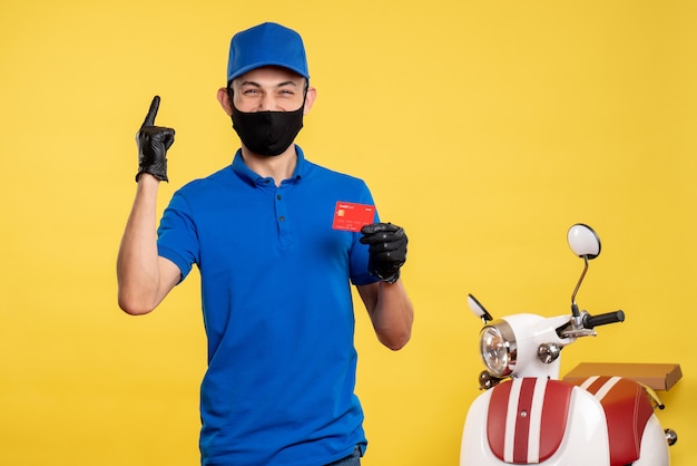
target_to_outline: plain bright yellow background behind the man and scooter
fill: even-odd
[[[680,436],[674,464],[696,464],[688,0],[3,2],[0,464],[197,464],[197,274],[147,317],[116,304],[134,136],[159,94],[157,123],[177,130],[160,208],[226,165],[228,41],[265,20],[306,42],[307,157],[365,178],[410,237],[411,343],[384,349],[357,312],[364,464],[457,465],[482,368],[467,293],[497,315],[568,312],[576,222],[603,245],[579,303],[627,321],[562,369],[679,362],[659,416]]]

